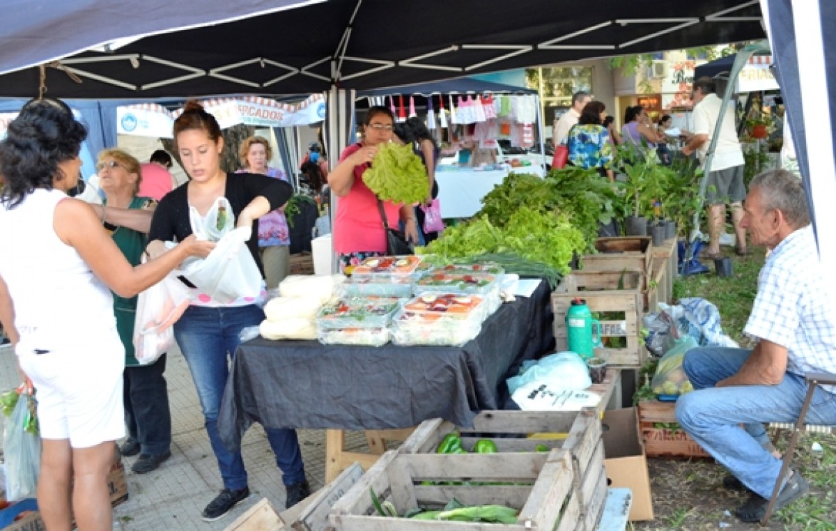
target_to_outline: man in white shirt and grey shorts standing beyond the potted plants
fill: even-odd
[[[746,197],[746,185],[743,182],[743,150],[737,140],[735,127],[734,105],[726,107],[726,115],[720,118],[722,100],[717,97],[716,84],[711,78],[700,78],[694,82],[694,135],[688,144],[682,148],[682,154],[691,156],[696,151],[703,165],[708,155],[708,145],[717,123],[720,123],[720,137],[711,161],[711,171],[708,174],[706,188],[706,202],[708,203],[708,236],[709,243],[706,251],[707,258],[720,258],[720,233],[726,220],[726,202],[732,208],[732,225],[737,235],[735,251],[739,256],[749,253],[746,246],[746,231],[740,226],[743,218],[742,201]]]

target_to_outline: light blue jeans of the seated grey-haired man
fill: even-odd
[[[797,421],[807,384],[802,376],[786,373],[778,385],[714,387],[736,374],[750,353],[719,347],[689,350],[683,367],[695,391],[676,401],[676,420],[747,488],[768,499],[781,461],[765,449],[763,423]],[[836,395],[817,388],[806,421],[836,424]]]

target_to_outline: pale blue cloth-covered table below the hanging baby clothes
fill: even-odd
[[[479,170],[458,166],[438,166],[438,201],[441,217],[472,217],[482,210],[482,197],[493,190],[512,171],[543,176],[540,166],[522,166],[507,170]]]

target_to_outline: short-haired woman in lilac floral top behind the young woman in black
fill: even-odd
[[[260,173],[288,181],[283,171],[268,166],[268,161],[273,158],[273,150],[263,136],[250,136],[244,140],[238,156],[244,167],[237,173]],[[267,288],[278,288],[278,283],[290,273],[290,232],[284,207],[258,218],[258,248],[264,264]]]

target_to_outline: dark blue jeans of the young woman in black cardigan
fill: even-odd
[[[177,344],[186,357],[201,401],[206,432],[217,458],[224,488],[247,487],[247,470],[241,452],[230,452],[223,446],[217,431],[217,414],[229,375],[229,362],[241,341],[238,334],[247,326],[257,326],[264,312],[256,305],[235,308],[190,306],[174,324]],[[282,470],[285,485],[303,482],[305,470],[296,431],[288,428],[265,430],[276,464]]]

